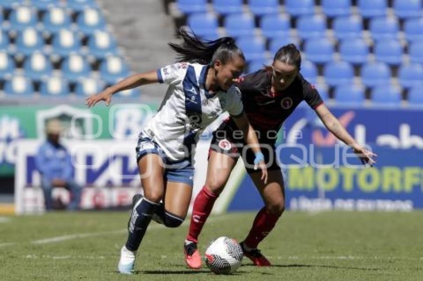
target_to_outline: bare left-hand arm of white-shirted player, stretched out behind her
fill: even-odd
[[[157,77],[156,70],[144,73],[137,73],[119,81],[118,83],[110,87],[107,87],[105,90],[98,94],[86,98],[85,104],[88,107],[92,107],[96,105],[99,101],[104,100],[106,102],[106,105],[108,106],[111,101],[111,96],[114,93],[158,82],[159,78]]]

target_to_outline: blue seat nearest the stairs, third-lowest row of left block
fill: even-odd
[[[96,59],[117,55],[116,41],[106,31],[97,30],[88,37],[88,52]]]

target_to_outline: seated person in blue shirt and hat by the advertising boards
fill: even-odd
[[[47,141],[43,143],[35,157],[37,170],[41,173],[41,186],[44,193],[46,210],[53,209],[51,197],[53,188],[63,187],[70,192],[68,210],[78,210],[81,202],[82,188],[73,180],[71,155],[60,143],[63,127],[57,119],[47,122]]]

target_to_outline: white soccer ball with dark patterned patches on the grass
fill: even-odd
[[[207,248],[205,260],[207,267],[215,274],[231,274],[240,266],[244,254],[235,239],[219,237]]]

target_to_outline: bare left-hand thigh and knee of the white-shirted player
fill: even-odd
[[[149,153],[138,160],[138,170],[144,197],[152,202],[160,202],[164,194],[163,162],[155,153]]]

